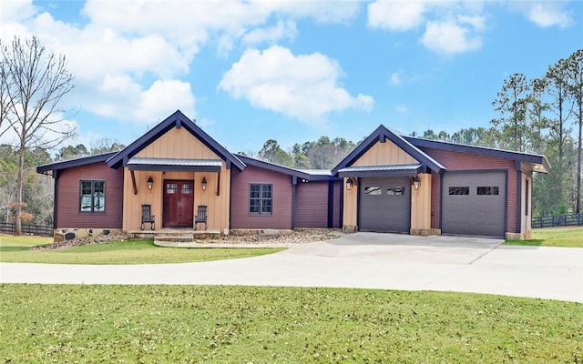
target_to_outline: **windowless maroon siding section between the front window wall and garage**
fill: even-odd
[[[295,227],[328,227],[328,181],[298,182]]]

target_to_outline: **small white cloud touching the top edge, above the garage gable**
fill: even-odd
[[[409,30],[424,22],[421,1],[382,1],[368,5],[368,25],[373,28]]]

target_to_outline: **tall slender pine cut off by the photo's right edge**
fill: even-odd
[[[579,49],[567,60],[568,90],[575,101],[575,125],[578,126],[577,149],[577,192],[575,200],[575,212],[581,212],[581,129],[583,128],[583,49]]]

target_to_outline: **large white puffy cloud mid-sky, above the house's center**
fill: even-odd
[[[245,98],[252,106],[295,117],[312,125],[325,123],[325,116],[348,108],[369,111],[373,97],[351,96],[338,79],[337,62],[314,53],[294,56],[281,46],[262,53],[250,49],[230,68],[219,88],[234,98]]]

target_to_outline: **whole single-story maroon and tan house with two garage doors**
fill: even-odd
[[[141,226],[211,231],[344,231],[526,238],[531,178],[546,157],[424,140],[379,126],[332,171],[231,154],[175,112],[118,153],[37,167],[55,179],[56,238]]]

